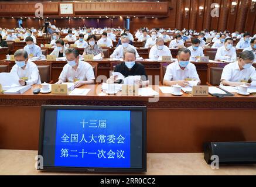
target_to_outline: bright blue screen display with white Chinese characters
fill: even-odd
[[[129,168],[131,112],[57,110],[54,165]]]

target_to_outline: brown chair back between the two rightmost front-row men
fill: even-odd
[[[223,72],[223,68],[228,63],[212,63],[207,64],[207,82],[206,84],[209,86],[219,86],[220,85],[220,79],[221,74]]]

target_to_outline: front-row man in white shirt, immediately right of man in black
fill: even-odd
[[[186,87],[189,85],[189,81],[200,81],[196,66],[189,61],[190,56],[191,52],[189,49],[179,49],[178,61],[168,65],[165,77],[163,78],[163,85],[173,86],[178,84]]]

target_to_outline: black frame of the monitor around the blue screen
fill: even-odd
[[[38,155],[43,155],[43,136],[45,129],[45,111],[53,109],[66,110],[139,110],[142,111],[142,168],[86,168],[86,167],[40,167],[40,171],[57,172],[122,172],[122,173],[145,173],[146,172],[146,106],[80,106],[80,105],[42,105],[40,113],[40,131]]]

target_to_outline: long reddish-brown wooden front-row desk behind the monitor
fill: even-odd
[[[216,98],[98,96],[101,85],[86,85],[87,96],[0,95],[0,148],[37,150],[41,105],[147,106],[148,153],[202,153],[206,141],[256,141],[256,96]]]

